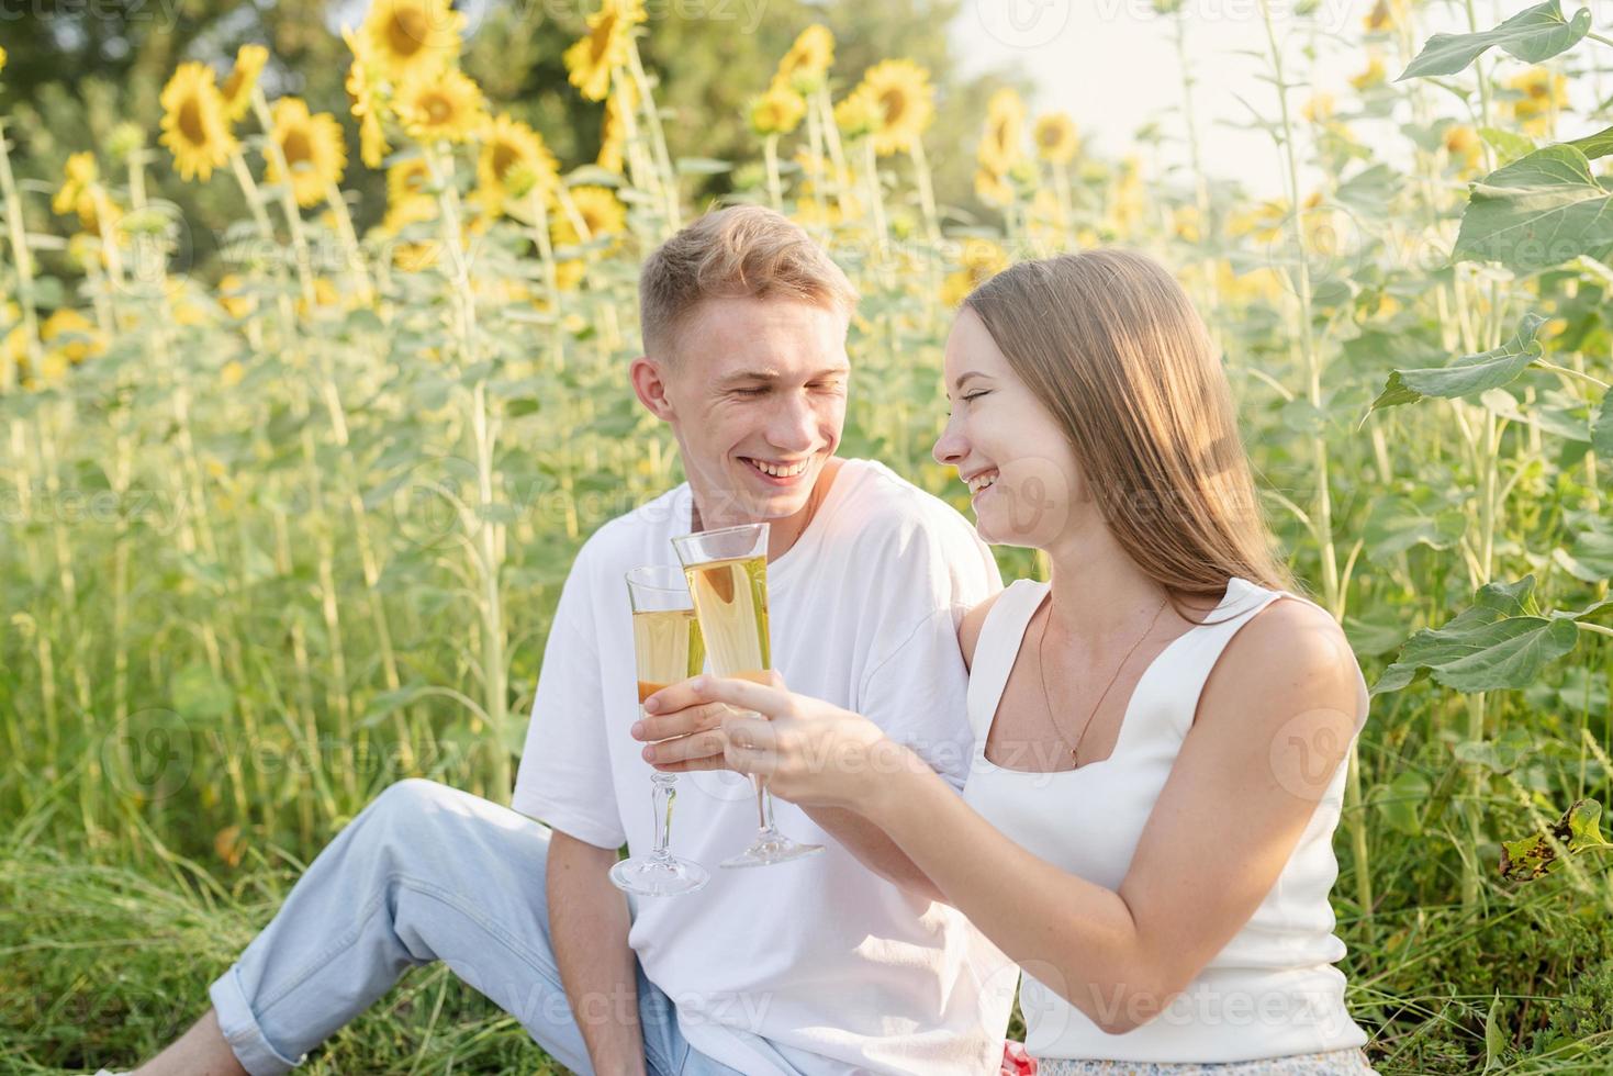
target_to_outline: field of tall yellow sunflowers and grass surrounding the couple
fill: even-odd
[[[356,145],[271,100],[256,45],[177,65],[160,131],[79,147],[50,190],[0,139],[0,1068],[126,1066],[182,1031],[386,784],[506,797],[573,552],[681,481],[623,382],[637,265],[724,176],[865,295],[844,452],[963,511],[929,460],[958,300],[1102,244],[1179,273],[1271,519],[1374,682],[1334,890],[1374,1065],[1607,1071],[1613,21],[1502,6],[1361,3],[1329,42],[1357,74],[1313,85],[1316,3],[1260,0],[1276,200],[1205,173],[1184,63],[1190,168],[1089,153],[1079,115],[1002,90],[989,213],[958,211],[929,73],[840,69],[818,24],[753,87],[752,158],[673,156],[640,0],[565,53],[603,110],[587,161],[463,73],[447,0],[347,31]],[[1189,56],[1192,5],[1153,8]],[[365,232],[360,165],[387,189]],[[206,271],[176,269],[158,171],[244,197]],[[450,1063],[552,1071],[444,968],[308,1070]]]

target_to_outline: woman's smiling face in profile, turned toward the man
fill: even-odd
[[[968,484],[981,537],[1047,548],[1068,532],[1073,508],[1089,503],[1076,457],[968,307],[947,337],[945,382],[952,411],[934,457]]]

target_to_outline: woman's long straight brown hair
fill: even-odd
[[[1021,261],[965,300],[1063,427],[1110,531],[1173,597],[1294,590],[1226,373],[1181,284],[1129,250]]]

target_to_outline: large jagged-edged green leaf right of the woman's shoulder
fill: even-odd
[[[1400,690],[1428,671],[1460,692],[1528,687],[1540,669],[1579,642],[1576,615],[1532,613],[1534,576],[1515,584],[1490,582],[1474,605],[1444,628],[1424,628],[1400,649],[1400,657],[1373,684],[1373,694]],[[1595,608],[1595,607],[1594,607]]]

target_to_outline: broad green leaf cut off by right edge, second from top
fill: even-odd
[[[1471,187],[1455,261],[1500,261],[1528,273],[1613,245],[1613,195],[1573,145],[1548,145]]]

